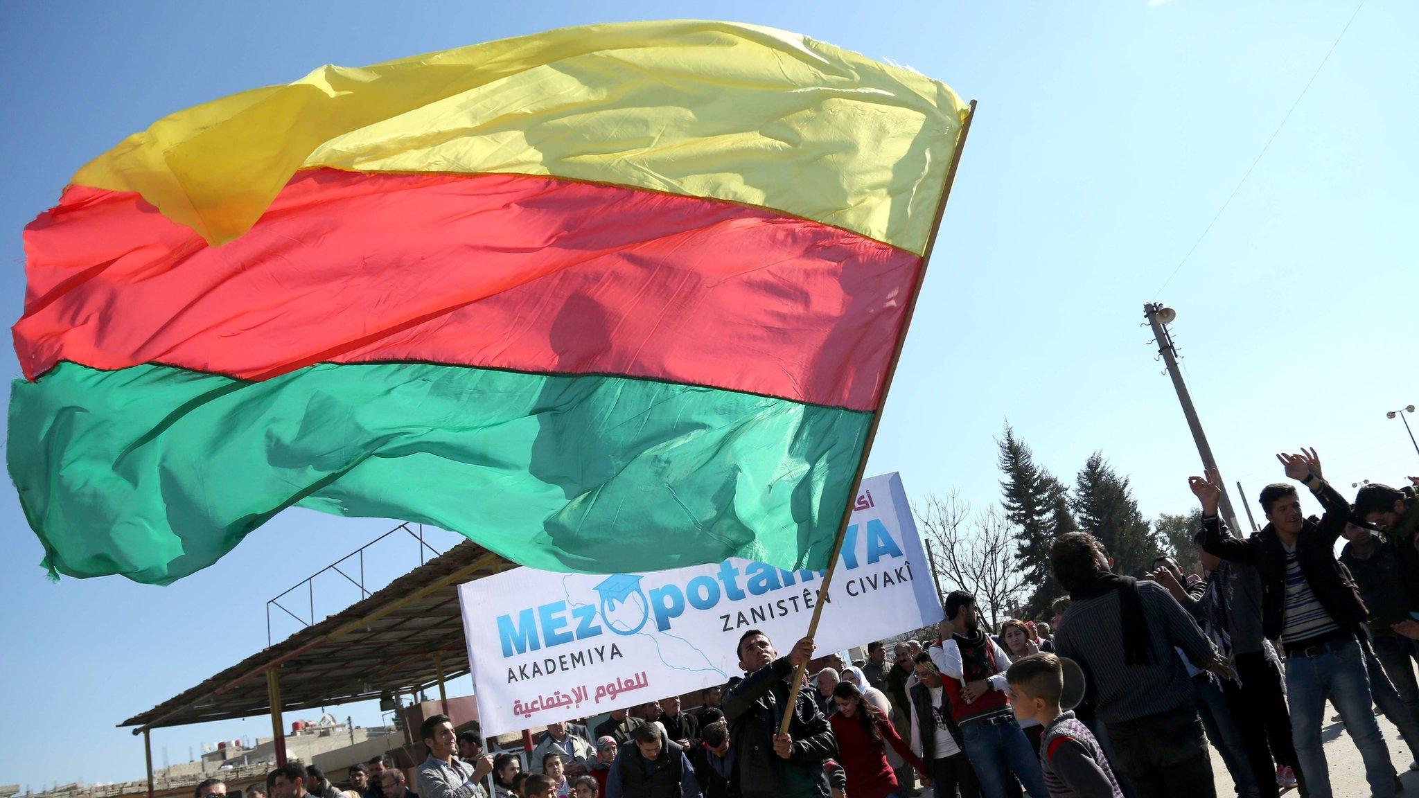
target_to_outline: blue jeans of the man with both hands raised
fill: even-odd
[[[1332,798],[1325,751],[1321,747],[1321,723],[1325,699],[1340,711],[1359,757],[1365,761],[1365,781],[1374,798],[1393,798],[1395,767],[1375,723],[1365,657],[1354,638],[1327,643],[1315,656],[1286,657],[1286,693],[1291,700],[1291,738],[1296,758],[1305,772],[1311,798]]]

